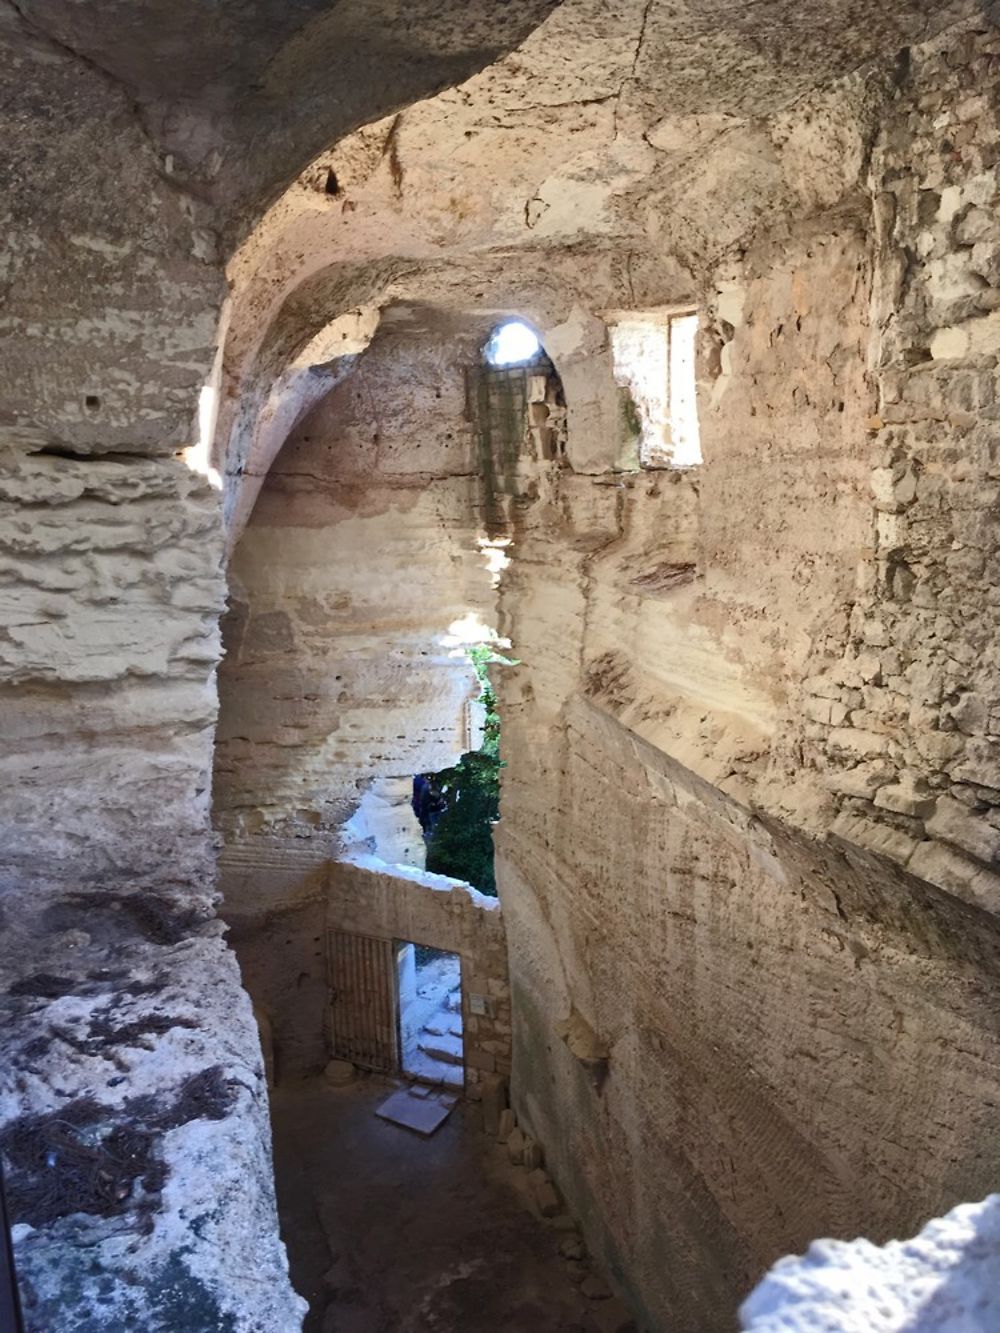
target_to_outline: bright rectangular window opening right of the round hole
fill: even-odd
[[[609,324],[615,380],[644,468],[701,463],[695,381],[697,311],[628,311]]]

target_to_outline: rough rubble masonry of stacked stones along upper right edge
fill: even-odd
[[[807,681],[836,830],[1000,909],[1000,37],[915,48],[872,160],[872,551]]]

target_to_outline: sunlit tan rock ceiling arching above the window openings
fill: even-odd
[[[907,43],[969,12],[564,0],[509,55],[320,153],[268,212],[229,268],[221,433],[252,380],[265,392],[327,321],[405,295],[400,280],[412,293],[421,269],[475,308],[499,265],[527,311],[536,271],[557,287],[564,257],[607,287],[588,253],[603,248],[617,300],[689,299],[763,220],[863,192]],[[245,457],[217,440],[220,467]]]

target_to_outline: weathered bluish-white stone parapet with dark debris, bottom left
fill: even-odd
[[[4,928],[0,1150],[27,1326],[295,1333],[260,1045],[220,922],[185,885],[8,882]]]

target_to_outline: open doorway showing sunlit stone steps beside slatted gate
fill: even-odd
[[[396,941],[399,1052],[404,1074],[463,1088],[465,1048],[457,953]]]

